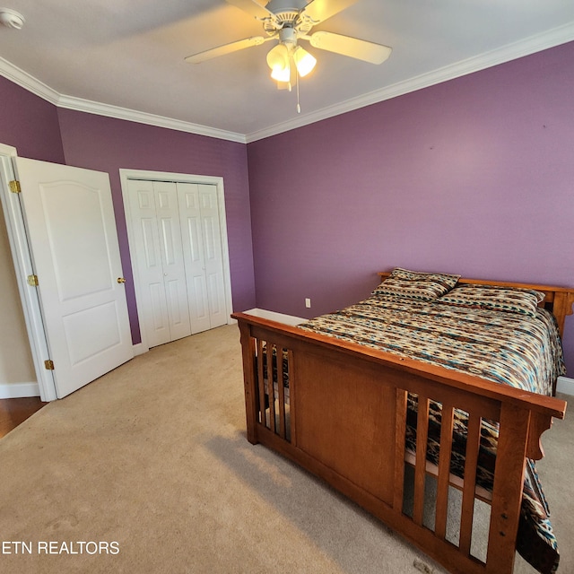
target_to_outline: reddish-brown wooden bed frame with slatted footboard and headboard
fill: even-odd
[[[387,273],[380,273],[385,278]],[[572,313],[574,289],[461,279],[544,291],[562,334],[564,318]],[[261,443],[316,474],[357,502],[432,559],[456,574],[510,574],[515,560],[518,517],[525,476],[525,459],[544,456],[540,439],[562,419],[566,403],[507,387],[483,378],[403,359],[359,344],[303,331],[245,313],[234,313],[243,355],[248,441]],[[271,356],[264,345],[275,345],[277,356],[288,358],[289,397],[275,384],[269,400],[263,364]],[[261,361],[258,360],[261,358]],[[283,361],[276,380],[283,381]],[[268,385],[267,385],[268,387]],[[404,511],[407,393],[442,404],[439,465],[434,526],[423,524],[428,408],[419,406],[414,465],[413,509]],[[449,473],[453,409],[469,414],[465,476],[476,475],[481,418],[500,422],[497,462],[491,492],[488,550],[482,560],[471,554],[474,478],[459,483],[462,503],[458,542],[447,539],[448,491],[456,481]],[[450,414],[450,416],[449,416]],[[418,445],[421,448],[418,448]],[[442,454],[445,453],[445,457]]]

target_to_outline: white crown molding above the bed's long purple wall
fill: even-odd
[[[252,134],[246,135],[246,140],[247,143],[256,142],[265,137],[288,132],[296,127],[308,126],[309,124],[314,124],[329,117],[339,116],[354,109],[360,109],[380,101],[390,100],[411,91],[422,90],[422,88],[428,88],[437,83],[453,80],[462,75],[473,74],[474,72],[479,72],[493,65],[504,64],[510,60],[529,56],[530,54],[540,52],[547,48],[554,48],[555,46],[570,42],[573,39],[574,22],[570,22],[559,28],[544,32],[543,34],[538,34],[508,44],[502,48],[485,52],[480,56],[470,57],[455,64],[446,65],[427,74],[421,74],[409,80],[405,80],[404,82],[394,83],[380,90],[370,91],[358,98],[345,100],[334,106],[319,109],[317,112],[253,132]]]

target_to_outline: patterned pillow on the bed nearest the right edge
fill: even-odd
[[[469,309],[508,311],[535,317],[536,307],[542,300],[544,293],[534,289],[497,285],[460,285],[444,297],[440,297],[437,302]]]

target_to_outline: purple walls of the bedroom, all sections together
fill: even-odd
[[[257,295],[258,307],[317,315],[364,297],[376,271],[395,265],[574,285],[573,58],[574,43],[552,48],[250,143],[247,153],[57,109],[0,77],[0,142],[109,172],[128,276],[117,170],[222,176],[237,310]],[[133,291],[130,311],[137,341]],[[572,317],[564,346],[571,377]]]

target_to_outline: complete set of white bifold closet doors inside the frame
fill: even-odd
[[[129,203],[148,346],[224,325],[216,186],[131,179]]]

